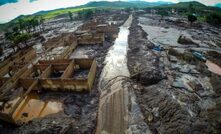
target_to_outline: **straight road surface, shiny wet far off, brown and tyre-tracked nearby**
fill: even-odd
[[[110,48],[105,59],[106,65],[100,77],[100,104],[98,113],[97,134],[124,133],[128,126],[128,91],[118,81],[107,87],[112,78],[122,75],[129,76],[127,68],[127,48],[129,26],[132,16],[120,27],[115,44]]]

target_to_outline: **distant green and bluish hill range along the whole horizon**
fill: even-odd
[[[95,9],[95,8],[113,8],[113,9],[122,9],[122,8],[130,8],[130,7],[136,7],[136,8],[177,8],[181,10],[188,10],[189,5],[192,4],[193,7],[198,10],[208,10],[208,11],[215,11],[218,13],[221,13],[221,9],[218,7],[209,7],[206,6],[200,2],[196,1],[190,1],[190,2],[180,2],[180,3],[171,3],[171,2],[146,2],[146,1],[134,1],[134,0],[128,0],[128,1],[98,1],[98,2],[89,2],[82,6],[77,7],[69,7],[69,8],[61,8],[56,10],[50,10],[50,11],[40,11],[37,13],[34,13],[32,15],[21,15],[12,21],[6,23],[6,24],[0,24],[0,30],[5,30],[9,27],[13,27],[13,25],[18,22],[18,19],[29,19],[32,17],[42,17],[44,19],[51,19],[56,16],[60,16],[62,14],[67,14],[70,12],[79,12],[85,9]],[[217,4],[216,6],[220,6],[220,4]]]

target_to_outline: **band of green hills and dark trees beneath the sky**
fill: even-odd
[[[16,19],[10,21],[6,24],[0,24],[0,31],[6,31],[11,29],[13,31],[22,29],[23,26],[19,24],[16,28],[15,26],[18,23],[21,23],[20,20],[23,22],[37,20],[38,23],[41,21],[49,20],[58,16],[67,16],[70,20],[73,20],[73,16],[70,16],[71,13],[77,13],[80,15],[79,18],[85,19],[87,17],[90,18],[92,12],[104,11],[104,10],[112,10],[112,9],[126,9],[126,11],[130,11],[131,9],[146,9],[149,11],[150,9],[156,9],[159,11],[159,14],[163,17],[169,15],[171,10],[176,11],[178,15],[181,16],[188,16],[189,14],[195,13],[197,16],[198,21],[206,21],[209,19],[210,14],[221,14],[221,9],[217,7],[209,7],[205,6],[199,2],[180,2],[177,4],[166,3],[166,2],[145,2],[145,1],[115,1],[115,2],[108,2],[108,1],[99,1],[99,2],[90,2],[83,6],[73,7],[73,8],[65,8],[65,9],[56,9],[51,11],[41,11],[35,13],[33,15],[26,15],[26,16],[19,16]],[[211,24],[216,24],[219,22],[219,17],[217,15],[213,15],[213,18],[216,20],[214,22],[206,21]],[[34,23],[34,22],[30,22]],[[35,22],[37,23],[37,21]],[[27,24],[27,23],[26,23]],[[43,27],[41,27],[43,29]],[[28,28],[26,28],[28,29]]]

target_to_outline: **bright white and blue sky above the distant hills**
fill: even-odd
[[[86,4],[95,0],[0,0],[0,23],[8,22],[19,15],[33,14],[42,10],[53,10],[58,8],[73,7]],[[96,0],[102,1],[102,0]],[[119,0],[106,0],[119,1]],[[123,1],[123,0],[122,0]],[[129,0],[128,0],[129,1]],[[181,2],[190,0],[145,0],[148,2],[167,1]],[[192,0],[191,0],[192,1]],[[221,0],[196,0],[205,5],[215,5]]]

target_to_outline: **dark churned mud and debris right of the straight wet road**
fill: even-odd
[[[171,21],[158,25],[155,22],[159,22],[160,17],[148,19],[143,24],[200,31],[197,26],[189,26],[188,23],[180,25]],[[206,28],[203,29],[201,32],[205,32]],[[218,35],[211,32],[216,30],[207,28],[206,33],[214,34],[218,46]],[[195,36],[203,38],[201,34]],[[151,41],[136,17],[130,28],[128,68],[133,78],[136,101],[152,133],[220,133],[220,76],[208,71],[204,62],[185,53],[176,55],[163,45],[160,51],[154,50],[157,43]],[[193,88],[178,87],[185,81],[183,78],[193,80]]]

